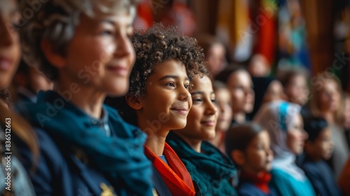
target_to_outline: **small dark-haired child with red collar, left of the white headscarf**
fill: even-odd
[[[226,153],[239,169],[239,195],[276,195],[268,186],[273,160],[268,132],[255,123],[244,123],[228,130],[225,143]]]

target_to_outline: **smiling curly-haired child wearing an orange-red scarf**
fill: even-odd
[[[202,48],[195,38],[160,24],[137,31],[132,43],[137,59],[122,99],[127,103],[117,109],[148,134],[145,153],[153,163],[158,195],[195,195],[190,174],[165,138],[170,130],[186,126],[192,106],[190,80],[207,71]]]

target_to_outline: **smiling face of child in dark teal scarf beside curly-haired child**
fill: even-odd
[[[187,117],[187,125],[183,130],[176,130],[187,139],[209,140],[215,137],[216,109],[215,94],[211,80],[204,76],[193,78],[193,88],[190,90],[193,106]]]

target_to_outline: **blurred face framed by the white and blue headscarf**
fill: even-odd
[[[300,155],[307,137],[307,132],[304,131],[304,125],[302,123],[302,116],[299,114],[287,132],[287,146],[289,150],[295,155]]]

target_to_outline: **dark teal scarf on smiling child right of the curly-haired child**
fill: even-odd
[[[236,173],[235,165],[218,148],[203,141],[202,153],[197,153],[173,131],[167,136],[167,144],[181,158],[202,195],[237,195],[231,183]]]

